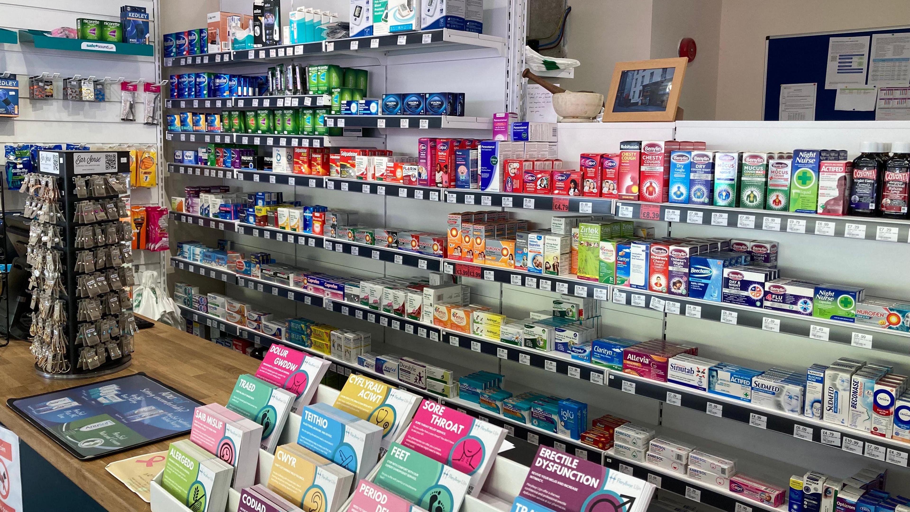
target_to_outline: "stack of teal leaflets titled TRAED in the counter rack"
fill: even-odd
[[[243,374],[227,399],[227,409],[262,425],[259,447],[271,454],[275,453],[281,429],[296,398],[296,394]]]

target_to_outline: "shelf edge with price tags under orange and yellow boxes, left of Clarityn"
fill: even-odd
[[[604,368],[572,359],[568,353],[541,352],[532,348],[496,342],[480,336],[472,336],[450,330],[444,331],[442,341],[473,352],[486,353],[500,359],[508,359],[516,363],[541,368],[554,374],[567,375],[593,384],[603,385],[606,382]]]

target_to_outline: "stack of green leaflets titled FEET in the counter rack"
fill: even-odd
[[[393,443],[373,483],[427,510],[458,512],[468,492],[470,476]]]

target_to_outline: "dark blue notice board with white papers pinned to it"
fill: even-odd
[[[910,26],[889,26],[854,32],[825,32],[796,36],[768,36],[764,56],[763,120],[777,121],[782,84],[817,83],[815,90],[816,121],[875,120],[875,110],[834,110],[837,89],[824,88],[828,60],[828,42],[832,37],[869,37],[869,57],[865,59],[866,83],[873,59],[872,35],[902,34],[910,36]],[[910,59],[908,59],[910,65]],[[905,86],[908,84],[905,84]]]

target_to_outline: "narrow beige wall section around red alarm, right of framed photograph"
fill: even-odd
[[[687,120],[714,118],[722,0],[653,0],[651,58],[679,56],[683,37],[698,53],[682,83],[680,107]]]

